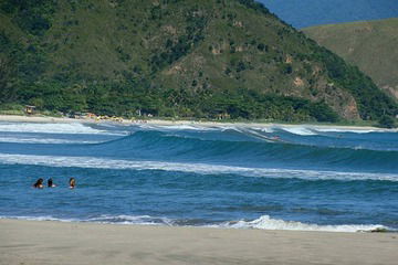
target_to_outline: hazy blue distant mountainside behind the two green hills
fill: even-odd
[[[297,29],[398,17],[396,0],[259,0]]]

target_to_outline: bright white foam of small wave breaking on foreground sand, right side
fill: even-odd
[[[307,224],[294,221],[284,221],[272,219],[269,215],[263,215],[253,221],[238,221],[227,222],[221,226],[233,229],[260,229],[260,230],[293,230],[293,231],[324,231],[324,232],[371,232],[371,231],[385,231],[388,227],[376,225],[363,225],[363,224],[343,224],[343,225],[318,225]]]

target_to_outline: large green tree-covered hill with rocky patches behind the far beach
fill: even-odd
[[[252,0],[0,1],[0,105],[286,121],[397,105]]]

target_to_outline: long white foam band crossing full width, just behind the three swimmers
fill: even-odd
[[[117,160],[94,157],[61,157],[0,153],[3,165],[33,165],[65,168],[100,168],[100,169],[133,169],[133,170],[165,170],[192,172],[200,174],[240,174],[259,178],[297,178],[305,180],[388,180],[398,181],[398,174],[337,172],[316,170],[244,168],[209,163],[185,163],[163,161]]]

